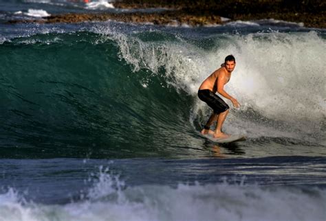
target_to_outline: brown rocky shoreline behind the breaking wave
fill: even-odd
[[[326,28],[326,1],[288,0],[124,0],[113,2],[115,8],[166,8],[160,12],[56,14],[43,19],[14,20],[9,23],[77,23],[83,21],[115,20],[155,25],[220,25],[230,21],[276,19],[303,23],[305,27]],[[221,17],[230,20],[225,21]]]

